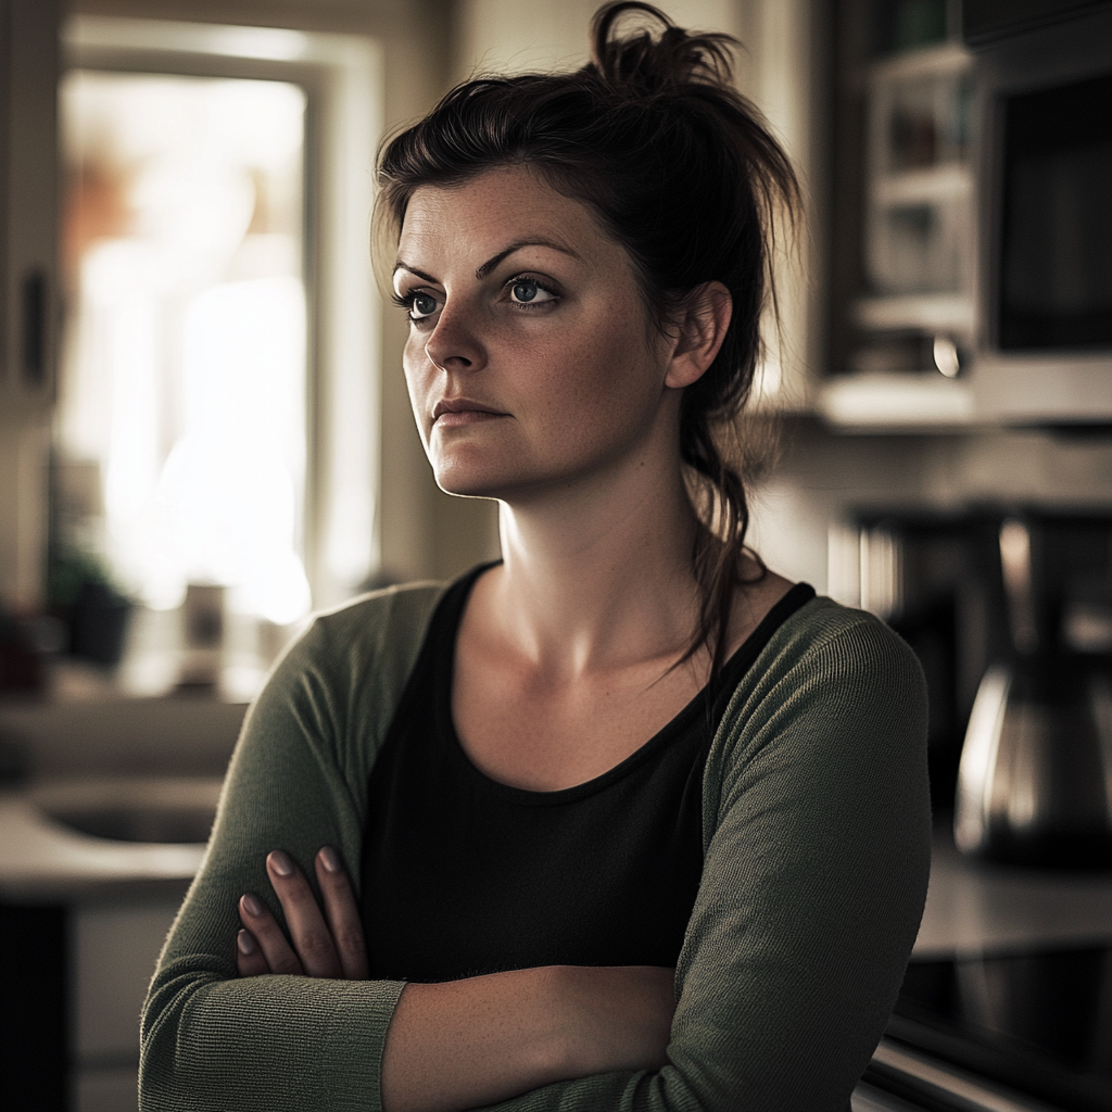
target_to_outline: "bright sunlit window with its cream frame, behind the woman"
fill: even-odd
[[[197,671],[197,585],[224,616],[201,655],[249,697],[309,607],[379,563],[381,50],[86,14],[62,46],[51,593],[87,598],[107,567],[140,604],[113,682],[157,694]],[[108,595],[89,605],[118,613]]]

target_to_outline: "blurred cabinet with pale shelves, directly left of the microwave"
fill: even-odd
[[[974,59],[954,17],[854,0],[835,20],[833,374],[816,397],[835,427],[975,419]]]

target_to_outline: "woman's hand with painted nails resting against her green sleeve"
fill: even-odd
[[[289,939],[266,904],[252,893],[240,897],[244,930],[236,939],[240,976],[294,973],[347,981],[367,979],[367,950],[351,882],[339,853],[326,845],[316,858],[324,914],[309,882],[289,854],[267,856],[267,873],[281,902]]]

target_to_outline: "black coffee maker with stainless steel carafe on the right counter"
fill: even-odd
[[[830,593],[915,652],[936,816],[964,852],[1112,864],[1112,513],[861,509]]]

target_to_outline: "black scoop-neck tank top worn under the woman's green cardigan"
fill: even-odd
[[[793,587],[715,681],[620,764],[575,787],[532,792],[479,772],[451,722],[456,633],[485,569],[440,599],[369,777],[361,911],[370,976],[673,966],[703,872],[714,732],[742,675],[815,593]]]

